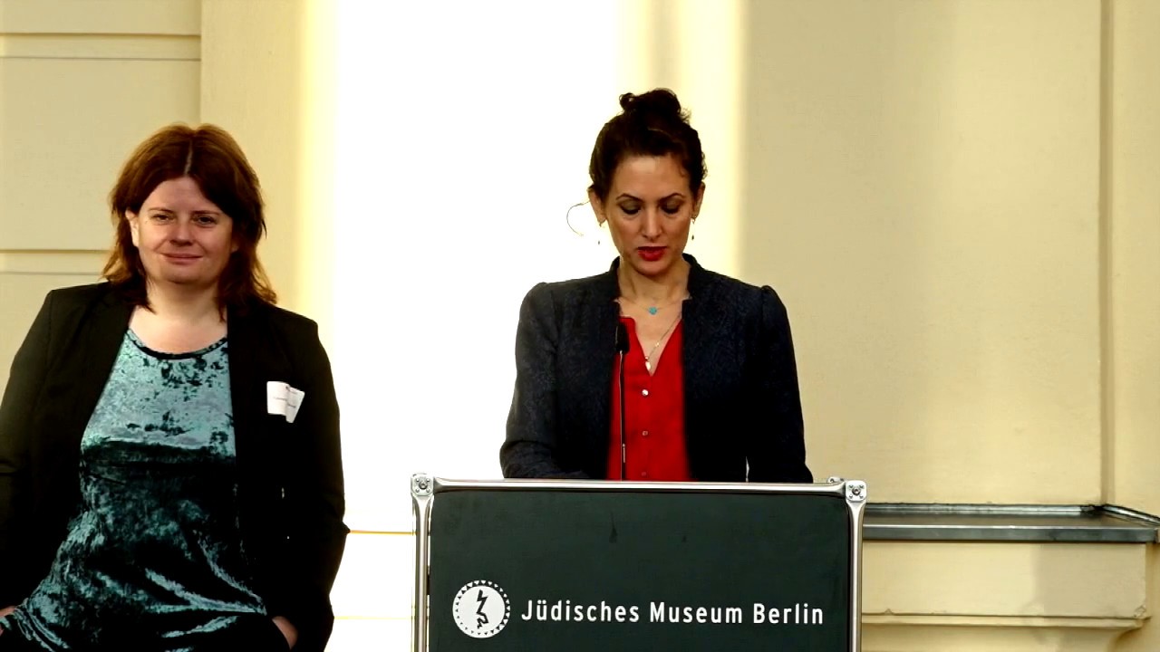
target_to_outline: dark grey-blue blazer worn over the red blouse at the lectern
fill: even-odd
[[[681,350],[690,473],[710,481],[812,481],[785,306],[769,287],[684,258],[691,265]],[[608,477],[617,265],[599,276],[541,283],[524,297],[500,449],[505,477]]]

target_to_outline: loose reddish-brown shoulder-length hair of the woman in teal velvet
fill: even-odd
[[[238,142],[212,124],[166,126],[138,145],[125,161],[109,193],[117,234],[101,276],[136,305],[148,305],[145,267],[133,245],[129,213],[139,213],[158,186],[182,176],[193,179],[205,198],[233,223],[238,251],[218,278],[218,307],[244,311],[254,300],[275,303],[277,295],[258,260],[258,241],[266,233],[258,174]]]

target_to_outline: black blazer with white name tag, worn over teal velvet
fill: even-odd
[[[0,607],[48,574],[80,505],[80,440],[121,347],[132,305],[108,283],[49,292],[0,403]],[[230,311],[239,520],[259,594],[321,652],[346,542],[339,406],[317,325],[255,302]],[[303,390],[293,423],[267,413],[266,384]],[[137,624],[140,626],[140,624]]]

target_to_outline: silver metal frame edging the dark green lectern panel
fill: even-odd
[[[786,495],[831,495],[846,500],[850,517],[850,650],[862,650],[862,519],[867,505],[867,484],[862,480],[829,478],[819,484],[761,483],[631,483],[612,480],[449,480],[426,473],[411,477],[411,505],[415,533],[414,621],[412,652],[427,652],[428,580],[430,578],[430,515],[436,493],[470,490],[563,490],[573,492],[647,491],[654,493],[775,493]]]

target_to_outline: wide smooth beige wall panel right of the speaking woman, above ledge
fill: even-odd
[[[740,267],[785,295],[813,464],[1100,502],[1100,2],[748,7]]]

